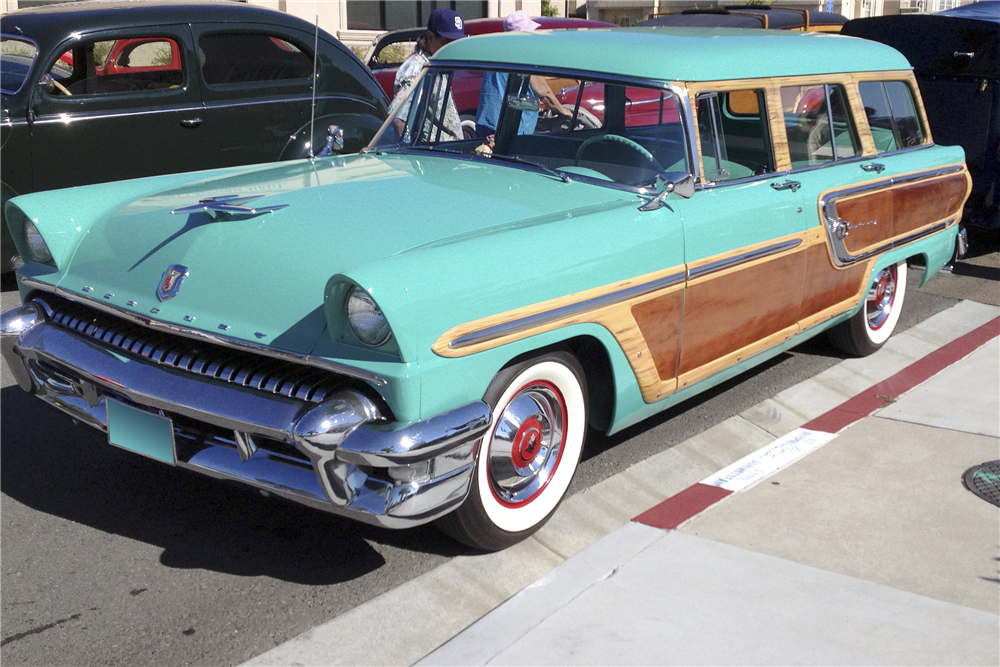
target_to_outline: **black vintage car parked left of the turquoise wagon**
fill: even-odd
[[[386,115],[382,89],[349,49],[306,21],[260,7],[71,2],[7,14],[0,32],[4,202],[305,157],[331,124],[353,152]],[[6,272],[17,260],[6,223],[2,234]]]

